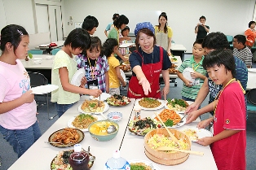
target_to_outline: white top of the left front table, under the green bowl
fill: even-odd
[[[51,160],[54,159],[55,155],[57,155],[60,150],[73,149],[73,147],[58,148],[44,142],[48,141],[48,137],[50,137],[51,133],[54,133],[59,129],[66,128],[68,120],[73,118],[73,116],[79,115],[77,108],[82,104],[84,98],[88,99],[88,96],[82,96],[79,102],[68,109],[68,111],[66,111],[63,116],[56,120],[56,122],[52,124],[52,126],[46,130],[45,133],[42,134],[42,137],[40,137],[38,141],[35,142],[33,146],[31,146],[29,150],[27,150],[24,155],[20,157],[20,159],[11,165],[9,170],[51,169]],[[121,111],[123,115],[122,120],[118,122],[119,131],[117,133],[117,137],[113,138],[113,140],[108,142],[98,142],[90,137],[89,132],[85,132],[85,138],[81,142],[82,147],[87,149],[88,146],[90,146],[90,153],[96,157],[95,163],[91,168],[92,170],[104,169],[104,163],[106,163],[107,160],[113,156],[113,150],[118,150],[120,148],[121,142],[126,132],[127,122],[130,119],[130,113],[134,107],[134,102],[135,99],[132,99],[132,101],[125,107],[110,107],[108,111],[104,112],[105,116],[107,116],[108,112],[110,111]],[[122,154],[122,156],[125,155]]]

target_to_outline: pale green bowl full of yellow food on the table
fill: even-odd
[[[116,126],[117,131],[108,133],[107,129],[110,125]],[[90,124],[88,129],[92,138],[94,138],[96,141],[104,142],[110,141],[117,136],[119,125],[111,120],[99,120]]]

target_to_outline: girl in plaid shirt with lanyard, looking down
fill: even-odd
[[[109,92],[108,60],[103,54],[99,37],[90,37],[90,48],[85,54],[77,56],[77,68],[84,68],[86,71],[86,86],[89,89],[100,89],[102,92]],[[82,85],[83,86],[83,85]]]

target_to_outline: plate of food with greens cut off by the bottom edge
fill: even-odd
[[[130,170],[161,170],[155,163],[146,160],[128,160],[130,163]]]

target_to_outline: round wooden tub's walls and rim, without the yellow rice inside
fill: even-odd
[[[183,140],[186,140],[186,142],[188,142],[188,150],[191,149],[191,141],[189,140],[189,137],[187,135],[176,129],[169,130],[170,133],[173,133],[174,136],[177,137],[178,139],[182,138]],[[179,163],[183,163],[188,159],[188,153],[177,151],[164,152],[152,149],[150,146],[148,146],[148,139],[152,137],[154,134],[164,134],[166,137],[170,136],[167,133],[166,129],[153,129],[152,131],[146,134],[146,136],[144,137],[144,149],[145,154],[148,156],[148,159],[151,159],[156,163],[164,165],[176,165]]]

